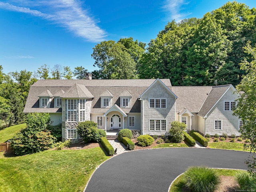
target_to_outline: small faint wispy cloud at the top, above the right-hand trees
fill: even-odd
[[[182,6],[187,4],[189,4],[189,2],[186,2],[186,0],[166,0],[163,8],[170,13],[168,19],[175,19],[176,22],[180,22],[186,16],[191,14],[186,12],[182,13]]]

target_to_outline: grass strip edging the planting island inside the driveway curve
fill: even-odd
[[[216,169],[217,174],[220,176],[234,176],[239,171],[240,170]],[[169,192],[182,192],[185,184],[185,175],[182,174],[173,182]]]

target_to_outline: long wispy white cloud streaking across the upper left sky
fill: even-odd
[[[106,32],[97,26],[97,22],[82,8],[82,3],[78,0],[23,0],[14,3],[27,7],[0,2],[0,8],[50,20],[92,42],[100,42],[106,36]]]

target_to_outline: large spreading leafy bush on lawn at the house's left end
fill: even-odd
[[[27,127],[12,138],[14,154],[32,154],[52,148],[56,138],[47,130],[49,123],[50,115],[47,113],[27,114]]]

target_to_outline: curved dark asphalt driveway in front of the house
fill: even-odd
[[[120,154],[104,162],[85,192],[167,192],[170,183],[189,166],[247,169],[248,152],[165,148]]]

